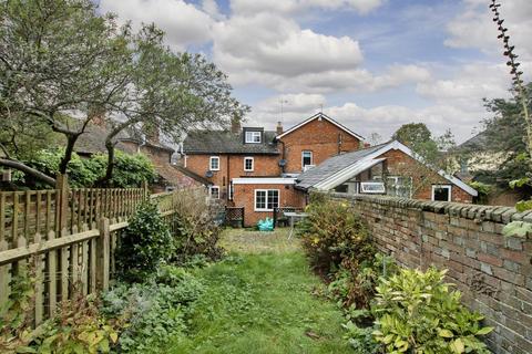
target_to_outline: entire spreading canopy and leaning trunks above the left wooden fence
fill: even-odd
[[[90,0],[0,0],[0,121],[64,135],[61,174],[96,118],[110,127],[105,185],[122,131],[156,129],[177,142],[186,128],[226,126],[248,111],[214,64],[172,52],[153,24],[133,34],[114,15],[99,15]],[[0,142],[11,145],[4,153],[13,149],[9,136]],[[4,155],[0,165],[53,184],[17,154]]]

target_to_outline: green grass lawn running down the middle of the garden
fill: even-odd
[[[341,313],[311,294],[320,284],[288,229],[227,230],[229,257],[197,270],[206,291],[195,303],[190,334],[167,353],[352,353]]]

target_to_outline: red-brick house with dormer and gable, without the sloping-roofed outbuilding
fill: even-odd
[[[327,158],[360,148],[364,138],[323,113],[288,131],[243,127],[190,132],[184,167],[207,178],[212,198],[244,207],[247,226],[272,217],[274,208],[305,206],[294,177]]]

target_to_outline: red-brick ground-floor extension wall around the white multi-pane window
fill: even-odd
[[[244,207],[246,227],[257,225],[260,219],[274,217],[273,211],[255,211],[255,189],[278,189],[280,207],[305,207],[306,195],[295,189],[294,185],[235,185],[233,202],[235,207]]]

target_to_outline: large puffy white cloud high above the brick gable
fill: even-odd
[[[233,17],[216,25],[214,60],[229,73],[254,71],[297,76],[356,67],[362,61],[358,42],[301,30],[272,13]]]

